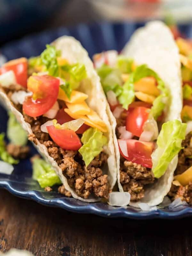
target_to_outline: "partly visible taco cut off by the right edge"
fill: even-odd
[[[178,31],[178,30],[177,30]],[[178,36],[181,34],[177,33]],[[178,67],[182,76],[182,110],[181,119],[187,124],[185,139],[178,155],[178,164],[174,172],[174,180],[168,196],[174,200],[180,198],[192,204],[192,44],[191,39],[176,38],[179,48],[180,63]]]

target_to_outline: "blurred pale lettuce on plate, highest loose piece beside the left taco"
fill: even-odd
[[[27,132],[23,130],[11,111],[8,112],[8,115],[7,138],[15,145],[25,146],[28,142]]]

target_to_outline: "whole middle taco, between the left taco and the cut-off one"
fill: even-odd
[[[162,22],[138,29],[121,55],[93,56],[111,112],[120,192],[131,205],[163,201],[173,180],[186,125],[180,121],[180,60]]]

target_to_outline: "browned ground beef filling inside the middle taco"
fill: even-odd
[[[125,126],[126,113],[122,112],[120,117],[116,119],[116,136],[120,134],[118,127]],[[138,137],[133,137],[138,139]],[[120,156],[120,183],[123,190],[131,194],[131,201],[139,201],[144,197],[144,185],[154,183],[154,176],[150,168],[143,167],[141,164],[129,162]]]

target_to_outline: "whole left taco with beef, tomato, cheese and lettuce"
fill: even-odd
[[[86,202],[108,199],[117,172],[108,103],[82,45],[60,37],[39,57],[11,60],[0,73],[2,104],[59,175],[60,191]]]

